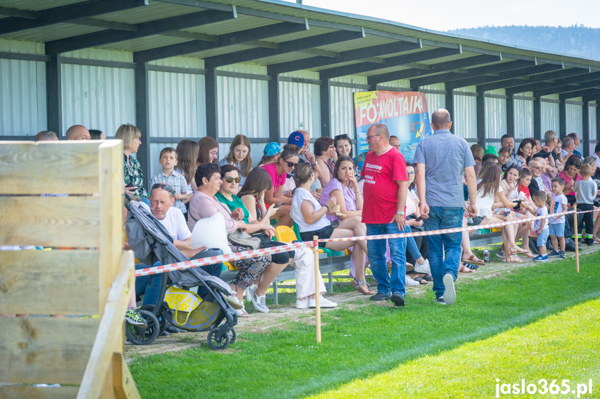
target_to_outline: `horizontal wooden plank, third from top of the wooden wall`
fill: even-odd
[[[0,314],[98,314],[98,251],[4,251]]]

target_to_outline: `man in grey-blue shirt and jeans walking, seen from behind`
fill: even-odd
[[[416,164],[416,189],[421,201],[425,230],[460,228],[464,213],[462,174],[469,189],[469,213],[477,214],[475,160],[464,139],[450,132],[450,112],[439,109],[431,115],[433,134],[416,147],[412,162]],[[456,299],[454,281],[460,265],[462,234],[453,232],[428,235],[429,264],[433,277],[435,301],[452,305]],[[446,256],[444,257],[444,253]]]

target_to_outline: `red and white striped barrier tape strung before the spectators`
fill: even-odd
[[[582,213],[587,213],[587,212],[594,212],[594,210],[578,211],[577,213],[582,214]],[[431,230],[431,231],[402,232],[402,233],[397,233],[397,234],[364,235],[364,236],[359,236],[359,237],[319,239],[317,241],[302,241],[302,242],[298,242],[295,244],[274,246],[271,248],[260,248],[260,249],[254,249],[251,251],[230,253],[228,255],[203,257],[203,258],[197,259],[197,260],[186,260],[185,262],[172,263],[172,264],[154,266],[154,267],[147,267],[146,269],[136,270],[135,276],[139,277],[141,275],[152,275],[152,274],[164,273],[165,271],[185,270],[185,269],[191,269],[191,268],[197,267],[197,266],[207,266],[209,264],[232,262],[235,260],[244,260],[244,259],[248,259],[249,257],[257,257],[257,256],[263,256],[263,255],[270,255],[272,253],[282,253],[282,252],[294,251],[295,249],[298,249],[298,248],[314,248],[315,246],[318,245],[318,244],[316,244],[317,242],[366,241],[369,239],[389,239],[389,238],[421,237],[421,236],[426,236],[426,235],[441,235],[441,234],[447,234],[447,233],[451,233],[451,232],[473,231],[473,230],[481,230],[484,228],[496,228],[496,227],[501,227],[501,226],[508,226],[511,224],[535,221],[537,219],[546,219],[549,217],[560,217],[562,215],[572,214],[572,213],[575,213],[575,211],[570,210],[567,212],[560,212],[560,213],[556,213],[556,214],[547,214],[547,215],[539,216],[539,217],[528,217],[528,218],[524,218],[524,219],[518,219],[515,221],[490,223],[490,224],[479,225],[479,226],[447,228],[447,229],[442,229],[442,230]]]

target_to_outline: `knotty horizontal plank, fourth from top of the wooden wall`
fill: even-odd
[[[79,384],[99,319],[0,318],[0,381]]]

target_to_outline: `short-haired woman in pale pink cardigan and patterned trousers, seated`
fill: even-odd
[[[188,225],[193,231],[195,224],[202,218],[211,217],[213,214],[220,213],[225,218],[225,227],[227,233],[232,233],[236,230],[246,230],[248,225],[243,221],[243,210],[236,208],[233,212],[228,207],[220,203],[216,194],[222,185],[221,169],[216,164],[202,164],[196,171],[197,192],[194,193],[190,201],[190,212]],[[234,180],[235,181],[235,180]],[[232,248],[234,253],[243,252],[252,249],[250,246],[241,246],[229,242],[229,248]],[[233,266],[239,269],[234,280],[229,283],[232,291],[236,293],[235,298],[242,301],[244,290],[252,287],[254,280],[262,274],[261,282],[264,282],[266,287],[270,285],[282,271],[286,264],[278,264],[273,262],[271,255],[263,255],[259,257],[249,257],[245,260],[236,260],[231,262]],[[268,284],[266,284],[268,282]],[[261,283],[262,286],[262,283]],[[259,287],[254,293],[251,293],[252,304],[262,313],[268,313],[269,308],[265,303],[266,288],[261,291]],[[234,298],[234,299],[235,299]],[[245,309],[238,309],[238,316],[248,316]]]

